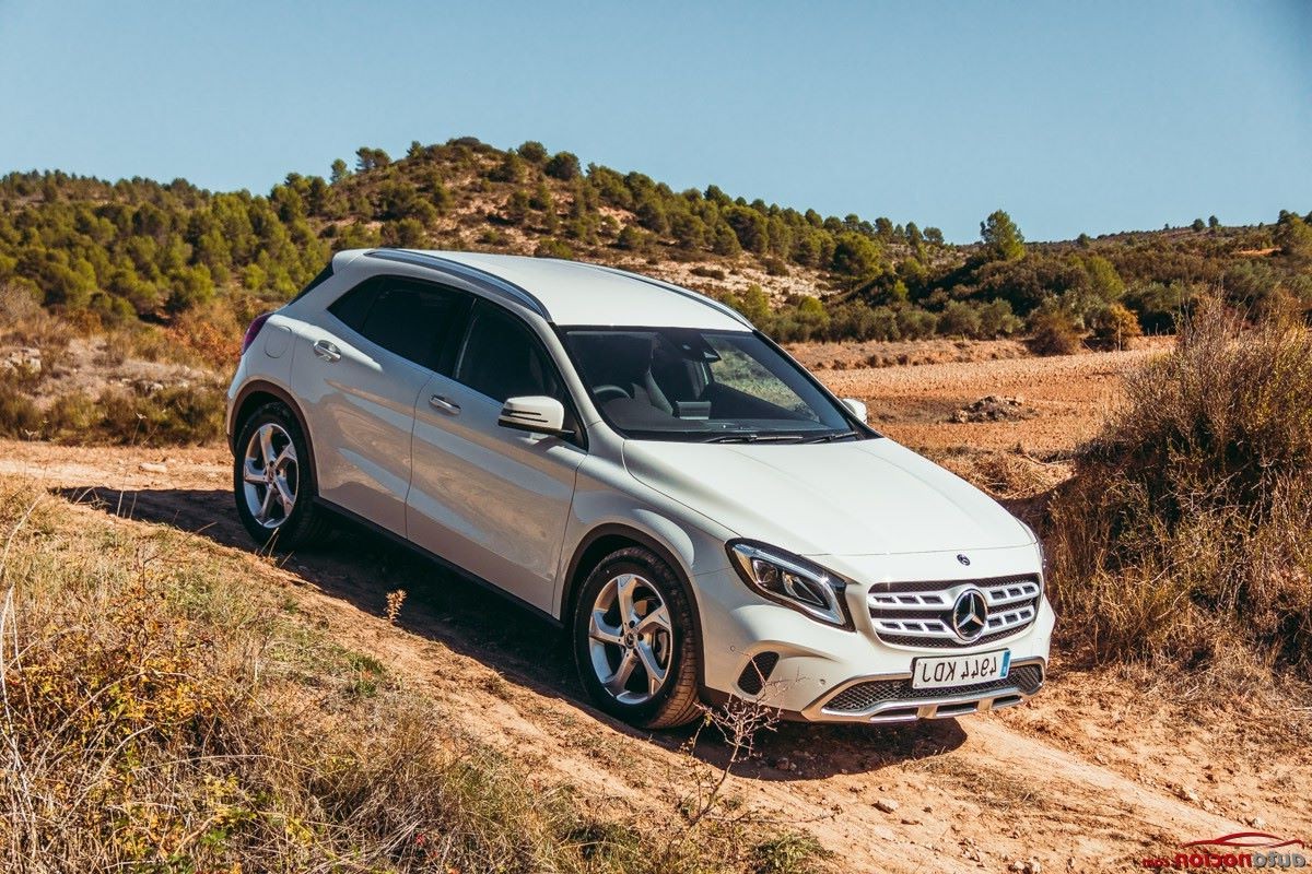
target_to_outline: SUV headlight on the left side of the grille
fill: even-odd
[[[800,556],[750,540],[728,544],[733,569],[748,586],[771,601],[828,625],[851,629],[844,590],[848,580]]]

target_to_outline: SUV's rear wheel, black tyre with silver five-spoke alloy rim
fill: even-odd
[[[315,504],[316,486],[310,444],[286,405],[265,404],[241,423],[232,459],[232,493],[241,524],[261,549],[283,552],[323,539],[328,519]],[[290,508],[285,499],[289,487]]]

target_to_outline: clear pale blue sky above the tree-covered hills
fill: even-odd
[[[1305,0],[0,0],[0,172],[266,191],[474,135],[956,241],[1312,210]]]

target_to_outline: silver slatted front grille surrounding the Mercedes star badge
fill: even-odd
[[[953,629],[953,607],[967,588],[984,592],[988,621],[984,634],[963,642]],[[951,649],[980,646],[1012,637],[1039,615],[1043,586],[1034,575],[953,582],[882,583],[866,601],[875,634],[884,643]]]

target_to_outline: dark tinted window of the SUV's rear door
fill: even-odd
[[[451,288],[380,276],[348,291],[328,312],[387,351],[440,370],[467,305]]]

